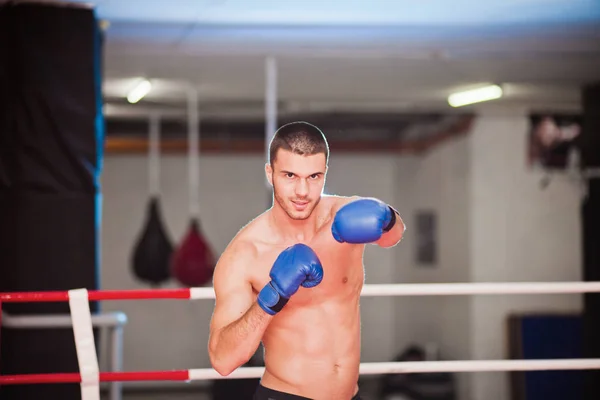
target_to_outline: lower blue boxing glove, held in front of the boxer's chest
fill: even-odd
[[[279,254],[271,272],[271,281],[258,294],[258,305],[275,315],[300,286],[312,288],[323,280],[323,266],[315,252],[305,244],[295,244]]]

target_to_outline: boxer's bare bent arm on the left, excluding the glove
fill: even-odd
[[[216,302],[208,353],[213,368],[223,376],[254,355],[273,318],[255,301],[246,272],[246,263],[253,257],[247,253],[240,251],[240,246],[227,249],[219,259],[213,277]]]

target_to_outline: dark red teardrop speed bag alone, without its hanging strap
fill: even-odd
[[[203,286],[212,280],[216,261],[198,219],[193,218],[181,246],[173,254],[172,274],[182,285]]]

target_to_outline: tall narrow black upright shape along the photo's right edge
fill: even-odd
[[[581,164],[584,169],[600,169],[600,82],[583,90]],[[600,178],[588,181],[587,197],[582,207],[583,277],[600,281]],[[584,357],[600,358],[600,293],[584,296]],[[600,371],[585,371],[584,400],[600,399]]]

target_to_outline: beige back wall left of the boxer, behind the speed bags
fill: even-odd
[[[262,163],[252,157],[204,158],[201,162],[202,229],[221,252],[231,237],[266,205]],[[102,175],[102,288],[145,288],[130,269],[130,256],[145,218],[148,193],[144,156],[107,155]],[[173,242],[188,228],[188,177],[184,157],[161,164],[164,221]],[[166,287],[176,287],[175,282]],[[209,366],[206,345],[211,301],[114,301],[104,310],[121,310],[125,328],[124,368],[128,370]]]

